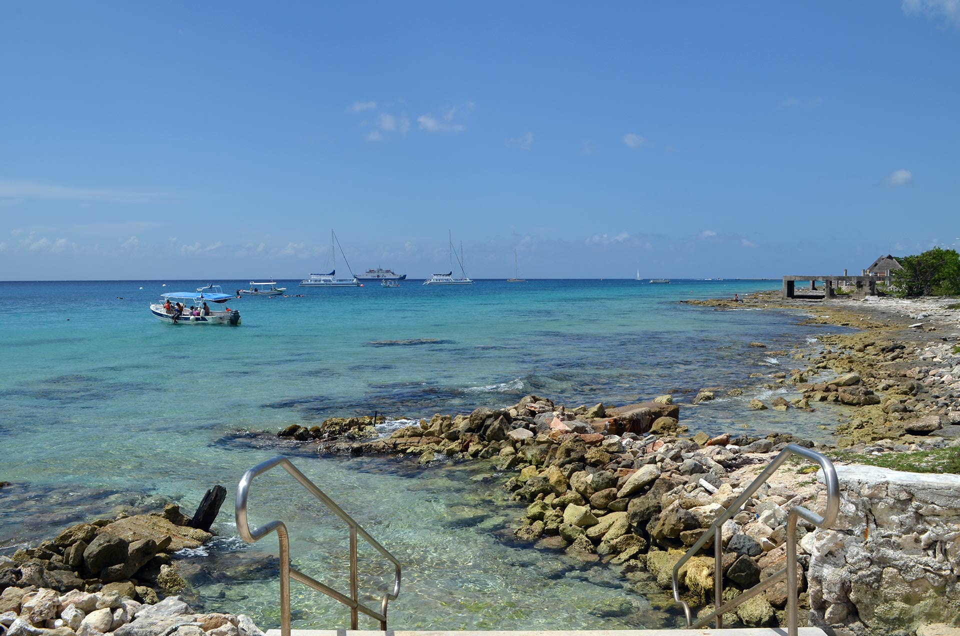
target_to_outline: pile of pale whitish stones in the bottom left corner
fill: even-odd
[[[13,607],[0,613],[7,636],[263,636],[247,616],[196,614],[180,597],[149,605],[116,590],[60,595],[30,587],[8,588],[3,599]]]

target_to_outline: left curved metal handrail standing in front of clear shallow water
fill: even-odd
[[[287,473],[290,473],[300,484],[318,500],[323,501],[326,507],[332,510],[340,517],[350,528],[350,596],[337,592],[333,588],[324,585],[318,580],[304,575],[299,570],[290,567],[290,537],[287,534],[287,527],[283,522],[272,521],[269,524],[251,529],[247,522],[247,497],[250,493],[250,485],[254,477],[266,473],[276,466],[282,467]],[[326,596],[337,599],[350,608],[350,629],[357,628],[358,612],[363,612],[367,616],[380,622],[380,629],[387,630],[387,603],[396,599],[400,593],[400,562],[396,560],[393,554],[381,546],[366,530],[358,526],[355,521],[341,509],[333,500],[327,497],[320,488],[318,488],[310,479],[303,476],[297,470],[290,460],[283,456],[277,456],[267,461],[260,462],[252,469],[244,473],[237,484],[236,501],[236,522],[237,532],[247,543],[253,543],[262,539],[266,535],[276,530],[276,538],[280,545],[280,633],[282,636],[290,636],[290,579],[300,581],[304,585],[323,592]],[[380,601],[380,611],[376,612],[363,605],[357,600],[357,535],[370,544],[375,550],[380,552],[385,558],[394,564],[396,574],[394,578],[394,591],[385,594]]]

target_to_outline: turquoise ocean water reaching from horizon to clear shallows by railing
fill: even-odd
[[[784,311],[680,303],[780,281],[340,289],[282,281],[303,297],[230,302],[242,316],[236,328],[165,325],[147,308],[161,293],[207,282],[0,282],[0,480],[12,482],[0,490],[0,553],[167,499],[189,514],[220,483],[228,488],[215,526],[222,536],[179,555],[180,570],[207,610],[276,626],[276,539],[246,546],[232,510],[243,472],[287,453],[404,563],[392,628],[671,626],[680,614],[642,576],[625,582],[610,568],[514,545],[509,524],[522,508],[489,467],[318,457],[246,433],[374,411],[392,420],[468,412],[530,393],[570,406],[664,393],[688,403],[704,387],[717,387],[719,399],[682,406],[691,432],[822,439],[818,427],[836,424],[829,407],[756,412],[746,404],[790,397],[764,389],[770,379],[749,377],[801,364],[772,352],[815,348],[819,334],[838,328],[802,326],[802,316]],[[214,282],[225,291],[248,283]],[[732,388],[744,394],[723,397]],[[345,529],[285,473],[254,483],[251,518],[285,521],[295,564],[348,589]],[[364,592],[375,597],[385,570],[376,564],[365,573]],[[293,591],[295,624],[348,626],[345,607],[296,582]],[[605,604],[623,599],[629,604],[616,611]]]

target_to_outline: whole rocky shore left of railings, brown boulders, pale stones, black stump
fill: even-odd
[[[199,614],[167,596],[188,589],[172,555],[213,538],[222,491],[208,491],[193,518],[174,504],[121,513],[0,556],[0,636],[263,636],[247,616]]]

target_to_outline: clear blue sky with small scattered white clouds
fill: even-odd
[[[960,246],[958,69],[958,0],[13,0],[0,280],[859,272]]]

